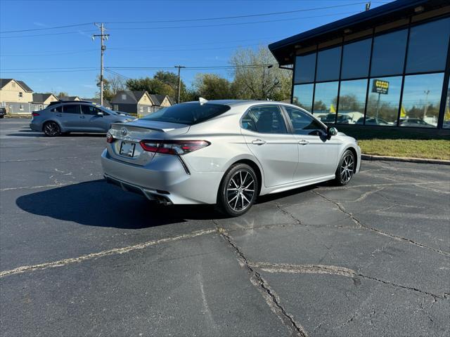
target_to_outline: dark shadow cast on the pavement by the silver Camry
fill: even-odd
[[[34,192],[18,197],[15,202],[34,215],[98,227],[141,229],[188,219],[221,218],[212,206],[160,206],[104,180]]]

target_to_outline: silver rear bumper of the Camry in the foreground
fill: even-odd
[[[114,159],[104,150],[101,164],[108,183],[165,204],[215,204],[224,174],[189,170],[170,154],[156,154],[149,164],[138,166]]]

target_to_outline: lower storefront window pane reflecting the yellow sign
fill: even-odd
[[[368,88],[366,125],[396,126],[401,76],[371,79]],[[361,117],[356,124],[363,124]]]

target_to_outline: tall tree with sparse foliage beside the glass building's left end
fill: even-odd
[[[290,98],[292,72],[276,67],[274,56],[265,46],[260,46],[257,51],[240,48],[231,56],[230,63],[235,66],[231,92],[236,98],[256,100]]]

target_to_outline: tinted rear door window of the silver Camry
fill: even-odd
[[[279,107],[252,107],[242,120],[242,127],[259,133],[287,133]]]

